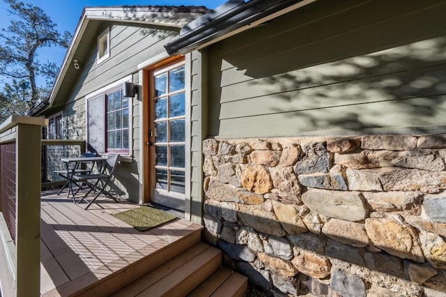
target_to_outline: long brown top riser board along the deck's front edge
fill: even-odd
[[[143,257],[135,261],[125,268],[116,271],[112,275],[105,277],[101,282],[96,282],[93,287],[86,287],[82,291],[77,291],[70,296],[110,296],[119,289],[139,279],[148,271],[153,271],[155,268],[161,266],[173,257],[197,245],[201,241],[201,230],[197,230],[180,238],[178,241],[167,245],[164,248],[158,249],[154,247],[154,252],[147,257]],[[130,254],[128,257],[141,257],[138,252],[134,255]],[[113,262],[107,266],[113,266]]]

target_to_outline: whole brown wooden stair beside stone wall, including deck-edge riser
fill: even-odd
[[[247,277],[222,266],[201,229],[70,296],[244,296]]]

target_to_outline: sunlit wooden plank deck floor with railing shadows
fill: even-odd
[[[110,279],[114,273],[123,274],[125,267],[144,261],[202,228],[178,218],[140,232],[110,215],[139,207],[137,204],[128,201],[116,204],[99,197],[98,204],[85,211],[85,204],[74,204],[66,195],[55,193],[43,192],[41,198],[40,294],[43,296],[79,294],[84,288]]]

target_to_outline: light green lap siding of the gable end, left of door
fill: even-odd
[[[93,36],[91,44],[82,42],[79,47],[91,48],[89,59],[79,61],[82,73],[77,79],[77,84],[68,96],[66,114],[70,123],[70,135],[75,139],[86,137],[85,132],[85,96],[108,84],[132,74],[134,82],[137,82],[137,64],[146,61],[160,52],[162,45],[174,38],[176,33],[162,31],[159,29],[141,29],[133,26],[111,26],[110,27],[110,57],[97,65],[96,63],[96,37],[105,30],[105,26],[93,31],[87,29],[84,36]],[[88,38],[87,38],[88,39]],[[136,73],[136,74],[135,74]],[[136,80],[135,80],[136,79]],[[133,147],[139,146],[139,102],[134,98],[133,108]],[[72,126],[73,125],[73,126]],[[75,129],[72,129],[75,128]],[[82,132],[79,132],[82,131]],[[134,152],[134,155],[138,155]]]

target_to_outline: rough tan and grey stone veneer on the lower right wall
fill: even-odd
[[[206,239],[252,282],[446,296],[446,135],[206,139],[203,154]]]

